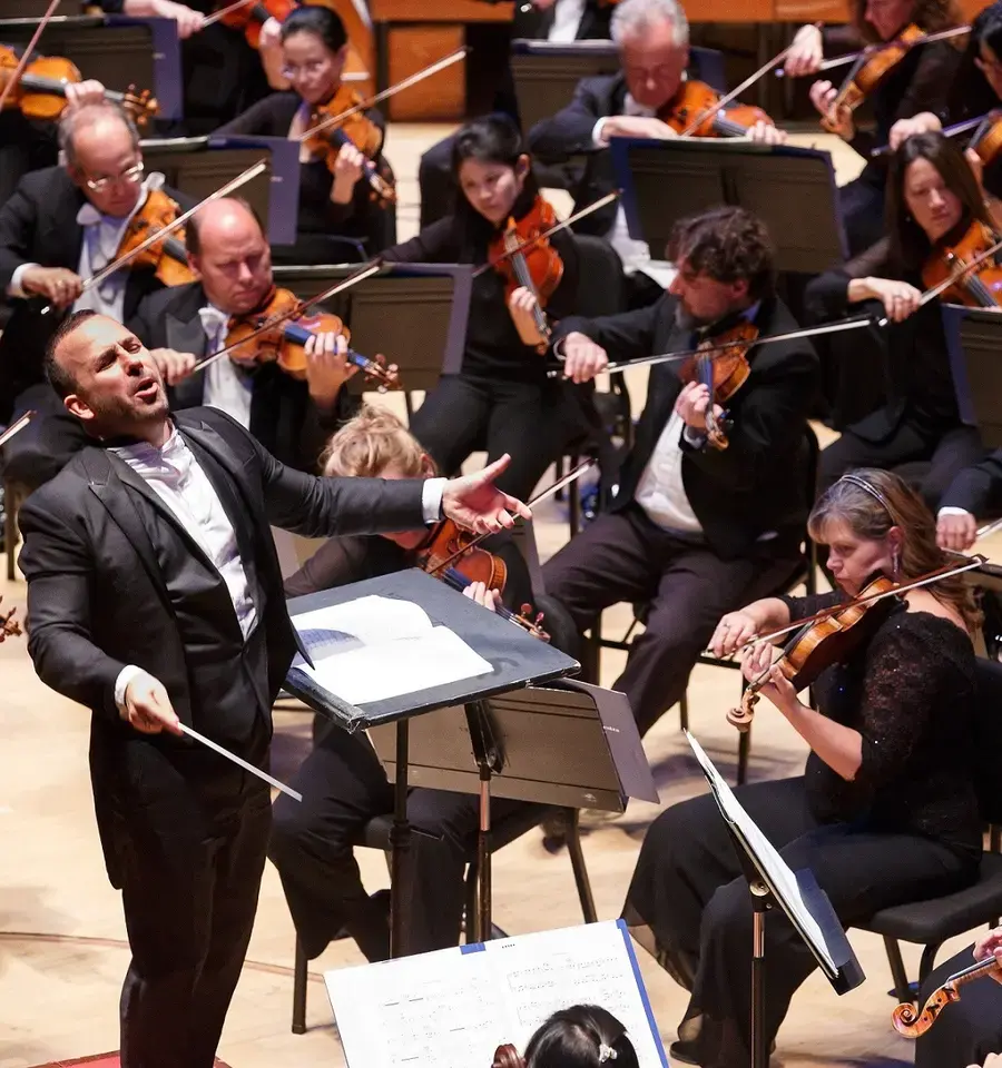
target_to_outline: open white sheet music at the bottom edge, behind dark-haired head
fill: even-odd
[[[640,1068],[667,1068],[623,920],[340,968],[324,982],[348,1068],[489,1068],[559,1009],[599,1005]]]

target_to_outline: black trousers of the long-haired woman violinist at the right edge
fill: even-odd
[[[906,415],[882,442],[865,441],[847,429],[822,449],[817,492],[824,493],[856,467],[886,467],[913,485],[935,513],[954,477],[983,456],[984,446],[975,427],[937,431]]]

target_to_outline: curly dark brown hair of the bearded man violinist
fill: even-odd
[[[758,216],[744,208],[711,208],[680,219],[668,239],[668,259],[685,261],[695,274],[715,281],[746,279],[753,300],[769,297],[775,289],[773,243]]]

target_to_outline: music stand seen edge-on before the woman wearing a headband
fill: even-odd
[[[809,870],[794,872],[756,827],[703,746],[685,732],[710,792],[727,824],[752,893],[752,1068],[768,1068],[765,1022],[765,917],[779,908],[814,955],[836,993],[854,990],[866,978],[828,896]]]

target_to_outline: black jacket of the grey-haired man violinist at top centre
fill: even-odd
[[[576,156],[586,157],[581,177],[571,189],[576,211],[617,188],[612,154],[608,148],[597,149],[591,135],[599,119],[622,113],[626,97],[626,79],[621,73],[582,78],[571,102],[529,131],[529,149],[540,162],[563,164]],[[581,219],[574,229],[601,237],[609,233],[615,220],[616,205],[610,204]]]

